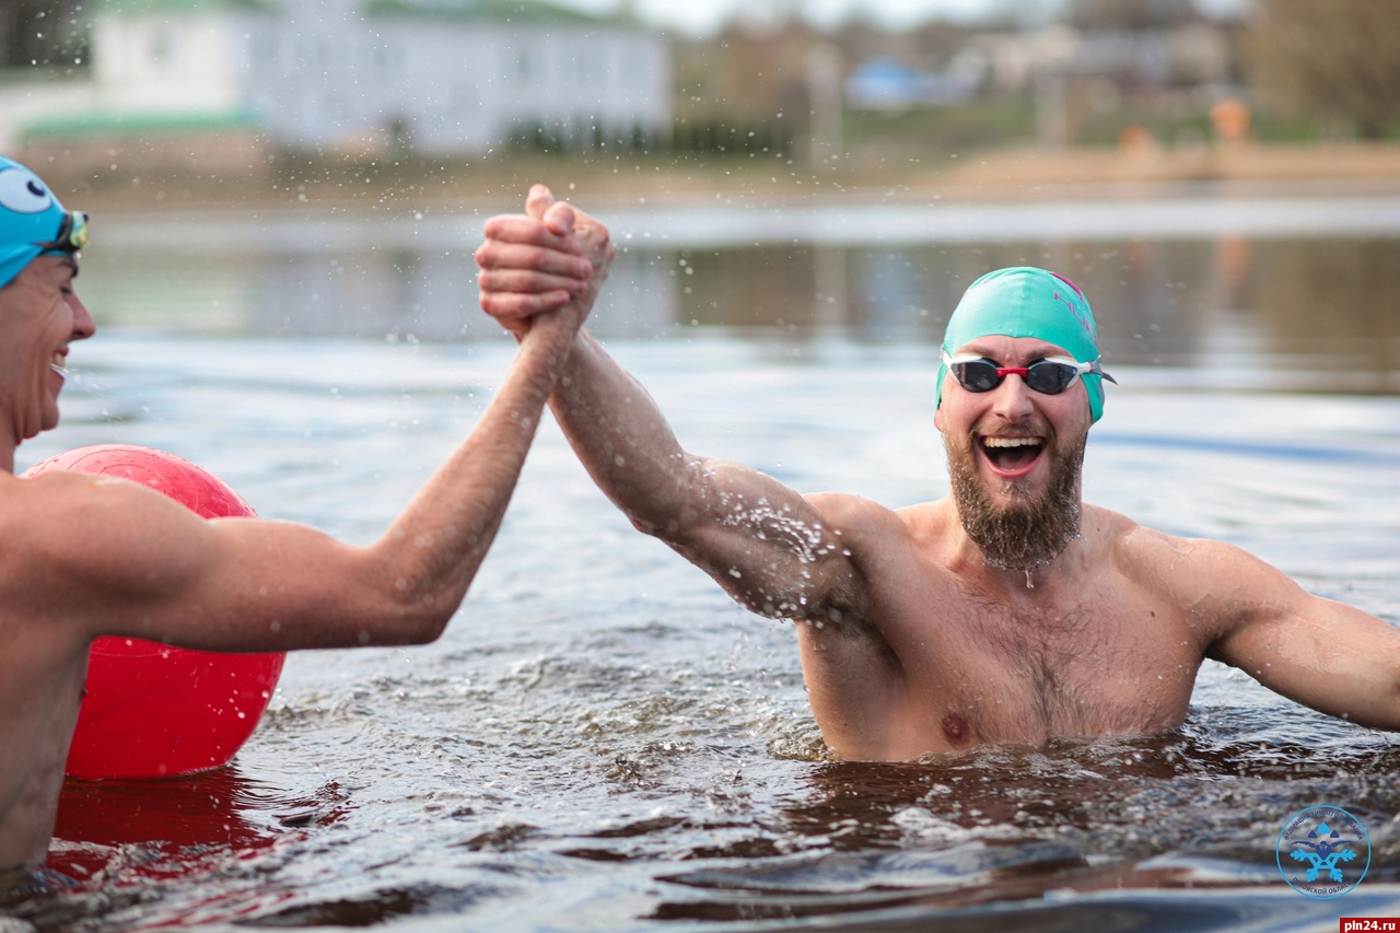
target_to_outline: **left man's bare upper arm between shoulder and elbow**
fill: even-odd
[[[90,636],[276,650],[312,637],[314,614],[329,616],[364,587],[350,549],[311,528],[206,521],[126,482],[84,479],[62,492],[69,521],[35,534],[31,595]]]

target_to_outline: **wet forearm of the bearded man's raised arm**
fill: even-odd
[[[704,503],[700,465],[647,389],[580,331],[550,398],[554,417],[594,482],[648,534],[694,520]]]

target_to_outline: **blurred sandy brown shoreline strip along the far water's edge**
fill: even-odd
[[[668,161],[669,160],[669,161]],[[584,209],[654,210],[725,205],[1130,200],[1200,196],[1277,198],[1400,193],[1400,144],[1250,144],[1128,153],[997,150],[939,157],[938,164],[788,164],[697,157],[578,158],[522,156],[456,167],[311,165],[260,178],[64,178],[36,165],[64,203],[101,214],[150,212],[290,212],[382,216],[416,207],[454,213],[515,210],[532,182]]]

